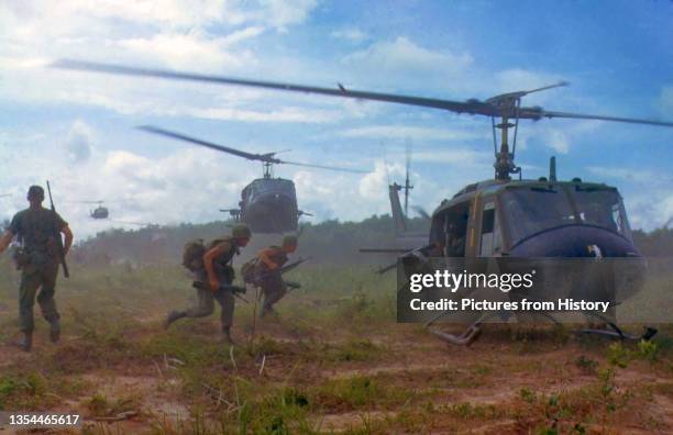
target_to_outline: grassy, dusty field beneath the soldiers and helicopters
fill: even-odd
[[[217,315],[163,330],[195,301],[177,266],[71,272],[57,290],[62,343],[36,308],[24,354],[9,345],[18,274],[2,258],[0,410],[77,412],[92,434],[673,432],[670,328],[619,344],[487,325],[471,347],[448,346],[395,323],[394,274],[302,266],[278,317],[254,320],[254,292],[236,301],[231,350]]]

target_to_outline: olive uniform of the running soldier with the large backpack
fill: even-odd
[[[233,260],[234,255],[239,254],[239,249],[234,244],[233,239],[230,237],[222,238],[218,241],[218,244],[227,243],[229,248],[227,252],[219,258],[213,261],[213,269],[218,277],[218,280],[222,285],[231,285],[234,279],[234,270],[231,267],[231,261]],[[210,248],[217,246],[210,246]],[[197,280],[208,283],[208,274],[206,269],[200,269],[196,271]],[[220,306],[222,308],[222,312],[220,315],[220,320],[222,323],[222,331],[228,331],[231,327],[233,322],[233,312],[234,312],[234,295],[230,290],[219,289],[217,291],[212,290],[203,290],[196,289],[198,303],[185,311],[175,311],[169,314],[168,324],[180,319],[180,317],[205,317],[214,311],[214,301],[217,300]]]

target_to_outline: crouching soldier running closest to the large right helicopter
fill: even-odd
[[[283,281],[283,277],[276,270],[287,263],[289,254],[297,250],[297,237],[288,235],[283,237],[282,246],[269,246],[257,253],[256,283],[264,294],[261,316],[274,313],[274,304],[287,292],[287,286]]]

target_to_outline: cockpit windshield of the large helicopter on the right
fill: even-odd
[[[503,196],[511,242],[569,224],[600,226],[630,237],[624,204],[610,188],[527,187]],[[573,210],[576,208],[577,214]]]

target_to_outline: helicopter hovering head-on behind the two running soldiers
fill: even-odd
[[[262,161],[262,178],[253,180],[243,188],[241,191],[241,201],[239,201],[239,209],[220,210],[230,213],[235,221],[246,223],[254,233],[295,232],[298,227],[299,217],[302,215],[311,215],[298,209],[295,183],[285,178],[274,178],[274,165],[295,165],[344,172],[366,174],[366,171],[357,169],[282,160],[276,157],[276,154],[278,154],[277,152],[265,154],[247,153],[155,126],[144,125],[139,129],[148,133],[232,154],[247,160]]]

